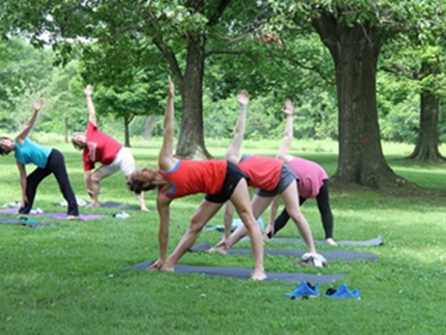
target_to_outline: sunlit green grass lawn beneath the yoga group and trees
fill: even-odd
[[[154,165],[159,139],[135,142],[137,165]],[[279,142],[246,142],[246,152],[275,153]],[[216,156],[227,143],[209,141]],[[333,174],[336,143],[294,143],[294,153],[314,159]],[[79,198],[85,198],[80,152],[60,144]],[[323,150],[327,148],[327,150]],[[441,148],[443,150],[444,148]],[[423,187],[446,191],[445,165],[401,160],[410,146],[384,145],[392,169]],[[444,152],[444,150],[443,150]],[[13,157],[0,159],[0,205],[19,200],[19,174]],[[28,168],[30,172],[31,167]],[[119,174],[104,181],[102,200],[135,205]],[[154,208],[155,194],[147,196]],[[169,251],[193,215],[201,196],[174,201]],[[58,211],[62,201],[53,177],[40,185],[35,205]],[[373,252],[379,261],[330,262],[316,270],[293,264],[287,257],[265,257],[268,271],[340,273],[349,288],[359,287],[360,301],[323,297],[290,300],[283,296],[297,284],[145,273],[122,270],[156,259],[158,217],[131,212],[129,220],[65,222],[30,229],[0,224],[0,334],[441,334],[446,329],[446,209],[440,198],[395,198],[372,191],[331,189],[335,237],[359,240],[381,235],[384,246],[350,247]],[[113,209],[81,209],[82,213],[113,214]],[[314,238],[323,238],[319,214],[310,200],[303,206]],[[263,214],[267,222],[268,213]],[[222,223],[222,213],[211,222]],[[296,236],[288,224],[282,237]],[[202,232],[198,242],[216,242],[217,232]],[[248,244],[244,244],[248,246]],[[274,247],[270,244],[269,247]],[[284,245],[277,247],[285,247]],[[292,244],[287,247],[296,247]],[[303,249],[303,246],[298,246]],[[330,250],[320,246],[320,250]],[[249,256],[187,254],[181,264],[244,266]],[[324,292],[329,285],[322,285]],[[443,331],[442,331],[443,330]]]

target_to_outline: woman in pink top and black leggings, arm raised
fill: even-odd
[[[283,110],[283,113],[287,115],[287,119],[282,145],[281,148],[279,148],[279,152],[277,152],[277,158],[287,162],[299,178],[298,189],[300,205],[303,205],[307,199],[316,198],[320,218],[322,219],[322,226],[325,231],[325,241],[327,244],[336,245],[336,242],[333,240],[333,214],[331,213],[329,203],[327,172],[313,161],[294,157],[290,154],[290,146],[293,138],[294,113],[294,106],[291,100],[285,101],[285,109]],[[290,219],[286,209],[283,209],[281,214],[275,218],[278,208],[279,199],[275,198],[271,206],[270,224],[268,224],[268,228],[266,229],[266,238],[272,238],[277,231],[285,227],[285,224],[287,224],[287,221]]]

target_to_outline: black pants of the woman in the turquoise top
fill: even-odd
[[[52,149],[49,154],[47,165],[45,168],[37,167],[29,176],[26,177],[26,196],[28,203],[25,207],[19,209],[19,213],[30,213],[34,198],[36,197],[37,187],[43,179],[49,174],[54,174],[56,181],[59,184],[60,192],[68,203],[68,215],[78,216],[78,202],[71,189],[71,184],[68,179],[67,167],[62,153],[57,149]]]

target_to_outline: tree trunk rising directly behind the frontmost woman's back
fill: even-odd
[[[204,43],[204,36],[197,36],[197,38],[189,40],[185,75],[180,85],[183,108],[176,155],[185,159],[209,159],[211,157],[204,146],[203,133]]]

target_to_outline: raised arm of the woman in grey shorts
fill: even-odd
[[[237,164],[242,157],[240,148],[242,147],[242,142],[245,135],[246,111],[249,104],[248,91],[240,91],[239,95],[237,96],[237,102],[239,103],[239,117],[237,119],[237,124],[235,124],[233,141],[224,154],[224,159],[234,164]]]

